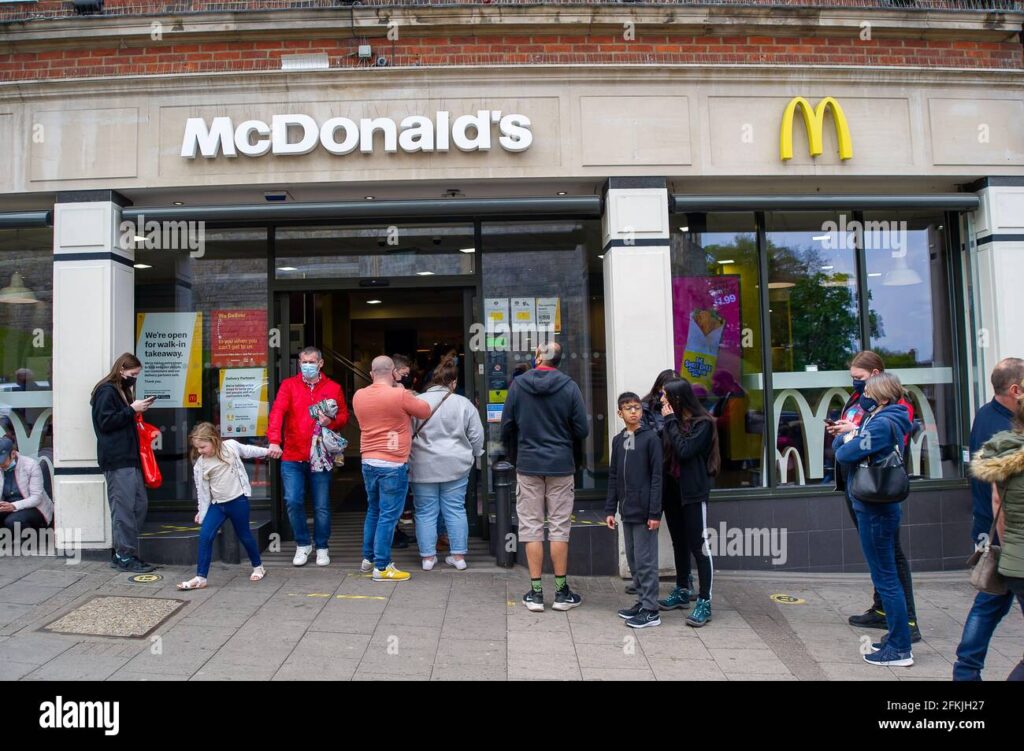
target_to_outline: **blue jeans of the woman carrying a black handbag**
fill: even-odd
[[[907,621],[906,595],[896,570],[896,536],[902,509],[898,503],[867,504],[853,502],[857,512],[860,547],[864,551],[871,583],[882,597],[889,625],[887,643],[899,653],[910,652],[910,625]]]

